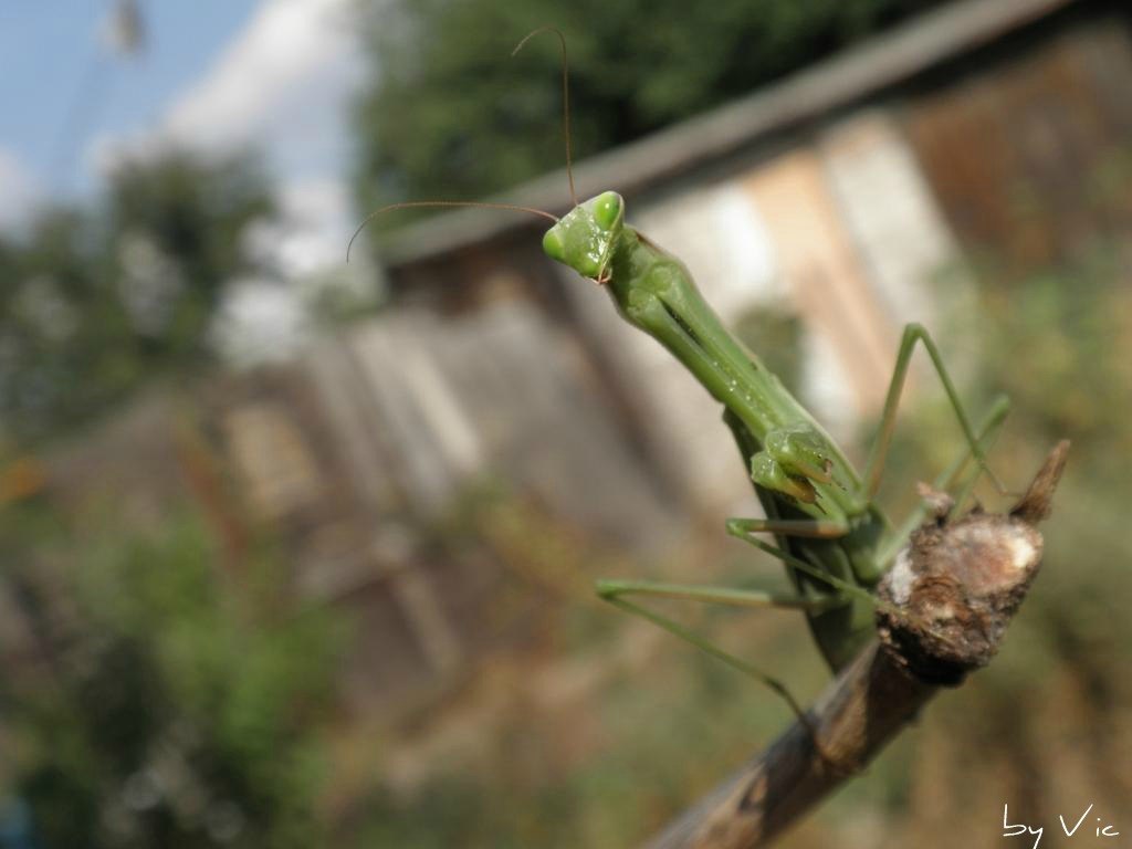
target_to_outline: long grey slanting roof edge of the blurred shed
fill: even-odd
[[[762,136],[907,80],[1079,1],[960,0],[926,12],[746,97],[575,163],[578,197],[609,188],[641,191]],[[566,187],[566,170],[558,169],[491,200],[560,214],[568,208]],[[383,240],[381,259],[396,268],[531,224],[516,215],[484,209],[445,213],[395,230]]]

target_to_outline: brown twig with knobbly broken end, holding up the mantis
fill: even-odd
[[[1069,443],[1054,448],[1007,515],[972,512],[920,528],[878,588],[878,641],[795,723],[649,842],[649,849],[751,849],[795,823],[872,761],[941,686],[990,660],[1041,560]]]

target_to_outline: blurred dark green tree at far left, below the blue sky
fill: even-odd
[[[91,212],[54,209],[0,238],[0,421],[67,429],[154,374],[209,359],[225,286],[273,201],[250,163],[183,153],[123,165]]]

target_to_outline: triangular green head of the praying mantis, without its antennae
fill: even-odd
[[[609,280],[609,259],[621,235],[625,201],[616,191],[604,191],[578,204],[542,237],[542,250],[598,283]]]

